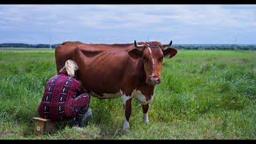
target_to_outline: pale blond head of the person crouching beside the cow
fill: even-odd
[[[65,66],[62,67],[62,69],[59,72],[64,72],[70,77],[74,78],[76,70],[78,70],[77,63],[69,59],[65,62]]]

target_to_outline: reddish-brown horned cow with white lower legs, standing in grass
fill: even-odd
[[[122,97],[123,129],[129,130],[131,100],[142,104],[142,119],[148,123],[149,103],[154,97],[154,87],[161,82],[163,58],[173,58],[178,50],[161,42],[136,42],[130,44],[86,44],[63,42],[55,49],[57,70],[67,59],[77,62],[77,78],[91,91],[92,96]]]

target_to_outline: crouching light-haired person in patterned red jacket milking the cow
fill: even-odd
[[[77,64],[67,60],[57,75],[46,83],[38,114],[53,122],[71,120],[73,126],[83,126],[91,116],[90,94],[75,77]]]

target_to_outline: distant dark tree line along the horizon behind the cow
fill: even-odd
[[[56,48],[60,44],[26,44],[26,43],[2,43],[0,47],[17,48]],[[256,45],[217,45],[217,44],[176,44],[178,50],[256,50]]]

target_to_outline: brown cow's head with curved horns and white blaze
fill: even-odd
[[[163,58],[172,58],[178,53],[171,44],[172,41],[167,45],[162,45],[160,42],[144,42],[138,44],[134,41],[134,49],[129,50],[128,54],[133,58],[142,59],[147,84],[155,85],[161,82]]]

